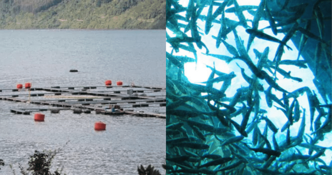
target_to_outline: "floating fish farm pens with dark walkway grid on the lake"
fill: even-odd
[[[166,89],[149,86],[81,86],[50,88],[1,89],[0,100],[23,102],[31,108],[11,108],[15,114],[30,115],[32,112],[72,110],[74,114],[134,115],[140,117],[166,118]],[[49,105],[52,107],[36,107]],[[118,110],[110,108],[110,105]],[[143,107],[149,107],[148,111]],[[136,110],[139,109],[139,110]]]

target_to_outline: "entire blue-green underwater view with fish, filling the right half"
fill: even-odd
[[[166,174],[331,175],[331,0],[167,0]]]

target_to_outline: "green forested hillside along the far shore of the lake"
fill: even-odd
[[[2,0],[0,29],[166,29],[166,0]]]

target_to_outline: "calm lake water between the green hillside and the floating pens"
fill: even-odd
[[[107,79],[165,87],[165,35],[164,30],[2,30],[1,87],[26,81],[34,87],[104,85]]]

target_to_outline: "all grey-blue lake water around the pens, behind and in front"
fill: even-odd
[[[32,87],[103,86],[107,79],[165,87],[164,39],[164,30],[2,30],[0,89],[25,82]],[[68,175],[138,174],[141,164],[165,173],[161,167],[166,156],[165,119],[69,110],[45,111],[45,122],[35,122],[33,114],[9,110],[31,104],[0,101],[0,105],[0,159],[5,162],[1,174],[12,174],[9,164],[18,174],[18,163],[27,167],[34,150],[57,148],[62,150],[52,170],[63,166],[62,173]],[[95,131],[96,121],[104,121],[106,131]]]

